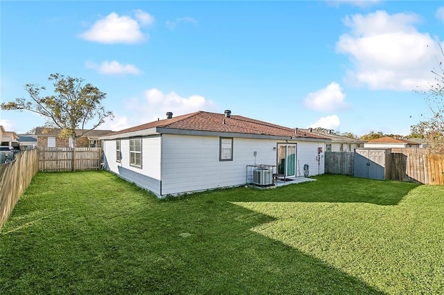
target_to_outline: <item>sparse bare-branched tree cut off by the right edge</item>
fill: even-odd
[[[438,69],[432,70],[434,82],[429,84],[428,89],[420,91],[425,95],[425,101],[432,116],[421,120],[418,124],[411,126],[411,133],[425,138],[427,143],[435,152],[444,153],[444,50],[441,49],[441,61],[438,61]],[[422,116],[422,114],[421,114]]]

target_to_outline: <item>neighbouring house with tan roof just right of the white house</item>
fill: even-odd
[[[319,136],[330,138],[332,141],[325,144],[325,152],[353,152],[358,147],[364,147],[365,141],[334,134],[332,130],[322,128],[308,128],[300,130],[302,132],[314,133],[318,134]]]

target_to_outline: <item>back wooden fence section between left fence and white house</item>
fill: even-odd
[[[101,168],[101,147],[39,147],[40,171],[97,170]]]

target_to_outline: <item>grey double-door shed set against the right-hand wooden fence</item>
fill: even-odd
[[[355,177],[390,179],[391,149],[356,149]]]

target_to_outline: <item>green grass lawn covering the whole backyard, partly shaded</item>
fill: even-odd
[[[38,173],[0,233],[0,294],[443,294],[444,188],[321,175],[158,200]]]

